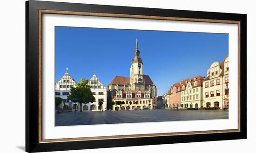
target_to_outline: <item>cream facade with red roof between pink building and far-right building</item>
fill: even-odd
[[[181,85],[181,108],[202,108],[202,81],[204,77],[196,76],[183,80]]]

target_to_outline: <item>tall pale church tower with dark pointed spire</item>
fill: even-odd
[[[140,57],[140,51],[138,47],[138,38],[136,38],[136,48],[134,51],[134,57],[132,59],[130,67],[130,85],[132,90],[145,90],[145,81],[143,77],[143,62]]]

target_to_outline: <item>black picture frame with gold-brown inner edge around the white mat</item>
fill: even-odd
[[[113,135],[44,140],[42,138],[42,14],[158,19],[238,25],[238,129],[158,134]],[[213,13],[127,6],[26,2],[26,152],[143,146],[246,139],[246,14]],[[97,144],[101,143],[99,147]]]

